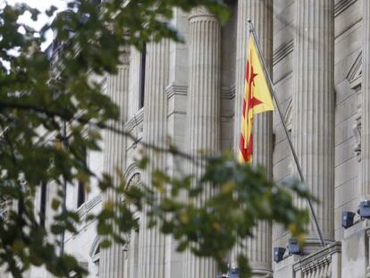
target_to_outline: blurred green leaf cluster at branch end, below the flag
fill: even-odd
[[[191,176],[173,178],[162,172],[153,174],[144,196],[151,207],[148,215],[164,233],[179,241],[178,250],[190,249],[199,257],[213,257],[225,271],[224,258],[238,248],[240,266],[248,266],[246,238],[253,237],[258,221],[282,223],[302,243],[308,221],[306,210],[293,206],[291,192],[311,198],[306,186],[296,180],[276,184],[265,178],[264,169],[240,164],[231,155],[216,155],[205,161],[199,181]],[[153,185],[156,190],[153,190]],[[163,188],[169,187],[171,194]],[[204,191],[213,192],[203,200]],[[157,197],[156,192],[162,194]],[[188,198],[181,198],[185,192]],[[248,268],[241,269],[248,276]]]

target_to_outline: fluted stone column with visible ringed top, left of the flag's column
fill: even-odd
[[[187,104],[187,152],[197,156],[199,150],[214,153],[220,149],[220,62],[221,29],[217,19],[204,7],[189,16],[189,92]],[[200,178],[204,169],[189,162],[188,171]],[[212,194],[205,189],[198,206]],[[186,278],[217,276],[211,259],[188,252]]]

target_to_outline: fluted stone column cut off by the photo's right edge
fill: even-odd
[[[370,199],[370,2],[363,1],[363,70],[361,117],[362,199]]]

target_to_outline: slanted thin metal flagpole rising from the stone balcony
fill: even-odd
[[[253,35],[253,38],[255,38],[256,47],[257,47],[259,56],[261,58],[262,64],[264,66],[265,75],[267,76],[267,79],[268,79],[269,84],[270,84],[271,92],[272,92],[272,95],[273,95],[273,100],[275,101],[275,105],[276,105],[278,114],[279,114],[280,119],[282,121],[282,127],[283,127],[283,130],[284,130],[284,133],[285,133],[285,137],[288,139],[288,143],[289,143],[289,146],[290,146],[291,154],[293,155],[294,162],[296,163],[297,170],[299,172],[300,181],[305,182],[305,178],[303,176],[302,169],[300,168],[299,158],[297,156],[296,150],[294,149],[293,143],[291,142],[291,139],[290,139],[290,135],[289,135],[287,126],[286,126],[285,121],[284,121],[284,119],[282,117],[282,109],[280,108],[280,105],[279,105],[279,102],[278,102],[278,98],[276,97],[276,91],[275,91],[275,88],[273,86],[273,80],[270,77],[270,72],[267,70],[267,66],[266,66],[266,63],[265,63],[265,57],[264,57],[264,55],[262,55],[261,47],[259,46],[259,42],[258,42],[258,38],[257,38],[257,35],[256,35],[255,26],[254,26],[253,22],[250,19],[248,19],[248,23],[249,23],[249,27],[250,27],[249,28],[249,32],[251,32],[252,35]],[[315,215],[314,206],[312,206],[312,202],[311,202],[311,200],[309,198],[306,199],[306,202],[307,202],[307,205],[309,207],[309,211],[311,213],[312,219],[314,220],[316,232],[317,232],[317,234],[319,236],[321,247],[324,248],[325,247],[325,242],[324,242],[324,238],[323,238],[323,234],[321,232],[320,226],[319,226],[319,224],[317,222],[317,218],[316,218],[316,215]]]

